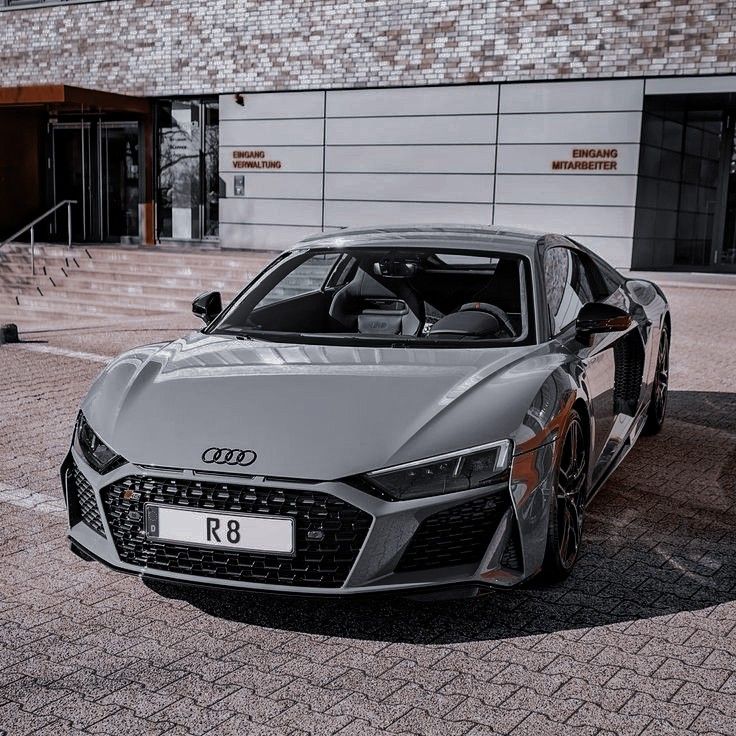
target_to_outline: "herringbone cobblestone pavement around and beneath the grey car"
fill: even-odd
[[[176,331],[0,347],[0,731],[733,736],[736,293],[669,296],[666,427],[596,499],[572,578],[434,604],[182,592],[80,561],[57,478],[78,402],[106,356]]]

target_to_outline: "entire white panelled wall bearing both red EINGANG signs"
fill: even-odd
[[[568,233],[629,266],[641,80],[220,98],[223,246],[287,247],[352,225],[469,222]],[[578,148],[615,169],[553,170]],[[279,169],[243,169],[259,150]],[[234,177],[245,196],[234,197]]]

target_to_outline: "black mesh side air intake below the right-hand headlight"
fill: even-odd
[[[480,562],[510,505],[509,492],[503,489],[428,516],[414,533],[396,572]]]

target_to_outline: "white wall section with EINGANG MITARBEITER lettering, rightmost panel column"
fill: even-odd
[[[641,80],[502,86],[494,222],[564,232],[629,266],[643,100]],[[581,148],[616,149],[615,169],[553,170]]]

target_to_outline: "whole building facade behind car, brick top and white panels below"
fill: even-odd
[[[733,2],[3,6],[0,190],[30,203],[16,220],[64,196],[87,240],[281,247],[460,220],[564,230],[619,266],[736,262]],[[32,145],[19,189],[14,151]]]

